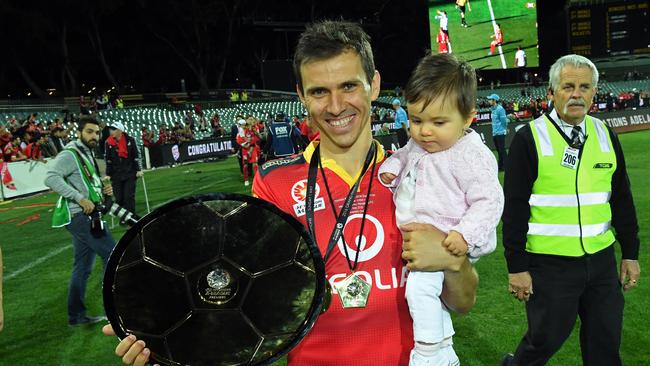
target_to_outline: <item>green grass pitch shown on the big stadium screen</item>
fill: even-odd
[[[490,35],[494,34],[488,0],[469,1],[472,11],[465,10],[468,27],[461,27],[460,13],[454,0],[429,1],[429,32],[431,49],[438,52],[436,35],[440,29],[436,12],[446,11],[449,18],[449,39],[452,52],[469,61],[476,69],[502,69],[498,48],[488,56]],[[506,67],[514,67],[515,52],[521,46],[526,51],[527,66],[539,66],[537,49],[537,2],[534,0],[491,0],[494,19],[503,32],[503,57]],[[532,4],[531,7],[529,4]]]

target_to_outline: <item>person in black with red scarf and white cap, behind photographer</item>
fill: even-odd
[[[113,122],[106,139],[106,176],[111,179],[115,203],[135,213],[135,181],[142,168],[135,139],[124,132],[124,125]]]

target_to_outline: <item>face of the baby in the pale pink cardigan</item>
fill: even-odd
[[[407,104],[411,138],[424,150],[430,153],[447,150],[463,136],[464,129],[472,123],[474,113],[463,118],[453,100],[454,98],[438,98],[424,110],[424,101]]]

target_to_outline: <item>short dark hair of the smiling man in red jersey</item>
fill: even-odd
[[[293,71],[298,87],[303,91],[300,66],[312,61],[322,61],[346,51],[355,51],[361,57],[361,65],[368,83],[375,76],[375,61],[370,46],[370,36],[360,25],[345,21],[324,20],[307,26],[300,35],[293,56]]]

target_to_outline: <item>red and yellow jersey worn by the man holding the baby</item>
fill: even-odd
[[[303,154],[265,163],[253,182],[254,195],[291,214],[305,227],[307,174],[315,144],[310,144]],[[385,155],[381,145],[378,146],[379,165]],[[338,213],[358,175],[350,176],[331,159],[323,160],[323,168]],[[344,228],[345,244],[339,241],[325,264],[330,284],[350,274],[343,245],[348,246],[350,258],[354,260],[368,184],[372,179],[356,270],[372,285],[367,306],[343,309],[338,295],[333,293],[330,308],[320,315],[311,332],[289,354],[289,365],[408,365],[413,329],[404,298],[407,269],[401,258],[402,236],[395,224],[393,195],[379,182],[377,170],[372,177],[371,169],[364,175]],[[336,221],[320,173],[315,193],[316,239],[324,254]]]

